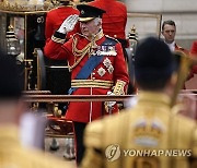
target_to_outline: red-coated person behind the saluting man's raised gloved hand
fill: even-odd
[[[61,5],[47,12],[45,24],[46,43],[50,40],[55,31],[59,28],[65,19],[70,14],[79,14],[79,11],[71,5],[71,1],[72,0],[59,0]],[[71,35],[79,31],[80,28],[78,24],[74,29],[67,35],[67,38],[70,38]]]

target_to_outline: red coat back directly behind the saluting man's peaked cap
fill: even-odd
[[[102,16],[102,27],[105,35],[126,39],[127,8],[123,2],[116,0],[94,0],[89,4],[106,11]]]

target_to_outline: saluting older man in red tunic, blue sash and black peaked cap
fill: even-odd
[[[103,34],[102,15],[105,11],[80,4],[80,16],[71,15],[63,21],[51,40],[45,46],[45,55],[53,59],[67,59],[71,71],[72,95],[123,95],[129,82],[121,45]],[[65,36],[80,22],[81,33],[66,41]],[[77,163],[83,153],[83,131],[88,122],[104,115],[117,112],[115,103],[70,103],[66,119],[73,121],[77,142]]]

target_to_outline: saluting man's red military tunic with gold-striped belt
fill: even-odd
[[[56,35],[55,35],[56,36]],[[76,65],[71,70],[71,85],[77,86],[78,89],[73,92],[72,95],[106,95],[108,91],[115,86],[120,86],[120,92],[117,94],[124,94],[126,92],[129,77],[127,73],[127,68],[125,63],[125,59],[123,56],[121,45],[109,37],[101,35],[95,44],[99,48],[104,48],[102,43],[108,38],[115,45],[111,45],[109,47],[114,47],[114,52],[103,52],[104,58],[100,62],[100,64],[92,71],[91,75],[86,80],[74,80],[81,68],[89,60],[89,53],[81,56],[77,56],[74,52],[74,41],[76,48],[78,50],[82,50],[85,48],[88,44],[91,41],[86,39],[84,36],[80,34],[76,34],[69,41],[62,43],[57,38],[58,36],[53,37],[45,46],[45,55],[49,58],[54,59],[67,59],[70,67]],[[59,35],[60,37],[60,35]],[[60,41],[60,43],[58,43]],[[94,57],[94,56],[91,56]],[[79,61],[80,60],[80,61]],[[79,61],[79,62],[78,62]],[[77,63],[78,62],[78,63]],[[117,107],[113,112],[117,111]],[[70,103],[69,108],[66,112],[66,119],[78,122],[90,122],[92,120],[101,118],[103,115],[106,115],[103,110],[103,105],[101,101],[93,103]]]

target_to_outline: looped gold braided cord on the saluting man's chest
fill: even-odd
[[[78,44],[78,38],[73,37],[73,43],[72,43],[72,53],[74,56],[74,63],[72,65],[69,65],[69,70],[71,71],[73,68],[78,65],[78,63],[82,60],[82,58],[88,53],[91,53],[91,46],[92,43],[89,43],[83,49],[79,50],[77,48]]]

